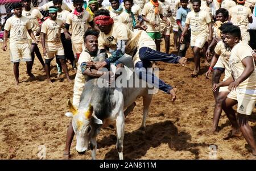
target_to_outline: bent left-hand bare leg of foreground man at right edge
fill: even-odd
[[[228,116],[228,119],[232,126],[232,136],[241,136],[240,126],[238,126],[236,113],[233,110],[233,106],[237,104],[237,101],[234,99],[226,98],[222,103],[222,108]]]

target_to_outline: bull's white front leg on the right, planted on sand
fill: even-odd
[[[119,159],[123,160],[123,137],[125,136],[125,115],[123,111],[119,111],[119,115],[117,116],[117,151],[119,155]]]

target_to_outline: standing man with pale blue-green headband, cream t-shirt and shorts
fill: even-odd
[[[64,28],[64,22],[57,19],[57,7],[49,7],[49,18],[43,22],[41,35],[44,59],[46,60],[46,77],[47,82],[52,83],[50,78],[50,66],[51,60],[56,57],[60,60],[61,67],[67,77],[67,81],[71,82],[68,75],[68,68],[66,64],[66,58],[64,54],[63,45],[60,40],[61,28]]]

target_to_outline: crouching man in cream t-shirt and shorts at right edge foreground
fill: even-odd
[[[224,43],[231,48],[229,68],[232,76],[226,81],[213,85],[213,89],[229,86],[230,93],[225,100],[223,109],[232,124],[232,135],[239,135],[240,130],[251,147],[252,155],[256,158],[256,143],[253,130],[248,123],[249,115],[253,112],[256,101],[256,70],[252,49],[248,44],[240,42],[241,31],[237,26],[228,26]],[[237,104],[237,116],[232,109]]]

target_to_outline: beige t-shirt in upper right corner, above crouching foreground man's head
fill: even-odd
[[[237,5],[229,9],[229,15],[231,15],[230,22],[239,26],[241,32],[245,32],[248,29],[248,18],[252,15],[251,10],[248,7]]]

